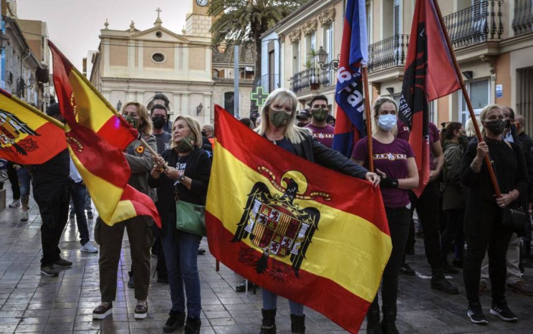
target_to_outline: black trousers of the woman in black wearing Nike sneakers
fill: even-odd
[[[483,228],[477,230],[475,235],[466,233],[468,248],[463,261],[466,299],[469,305],[479,304],[481,263],[487,252],[492,301],[501,303],[505,301],[505,258],[513,231],[502,226],[502,210],[496,204],[483,205],[479,208],[479,213]],[[468,224],[467,221],[465,223]]]

